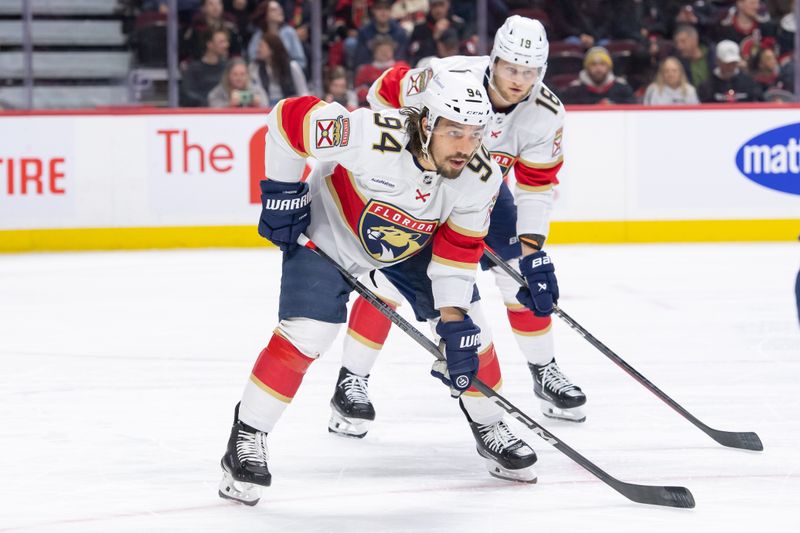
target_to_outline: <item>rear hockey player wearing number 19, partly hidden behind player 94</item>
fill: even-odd
[[[395,67],[370,88],[373,109],[415,105],[424,98],[432,75],[443,69],[466,70],[489,93],[492,113],[484,145],[503,170],[504,184],[492,212],[486,243],[503,259],[518,266],[533,295],[499,267],[492,268],[507,307],[508,320],[530,368],[534,393],[542,411],[553,418],[582,422],[586,396],[559,369],[551,328],[552,304],[558,284],[552,262],[542,251],[548,234],[553,186],[563,162],[564,107],[542,79],[548,42],[536,20],[512,16],[498,30],[489,57],[455,56],[434,59],[429,68]],[[508,178],[516,181],[512,195]],[[492,265],[481,260],[484,268]],[[365,278],[384,300],[396,306],[400,294],[379,274]],[[523,305],[524,304],[524,305]],[[331,400],[329,430],[363,437],[375,418],[368,380],[391,323],[363,299],[353,306],[339,381]],[[484,338],[489,333],[484,328]],[[489,344],[486,350],[493,350]],[[467,394],[470,394],[469,392]]]

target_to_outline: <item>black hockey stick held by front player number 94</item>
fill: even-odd
[[[378,298],[371,290],[365,287],[358,279],[348,272],[339,263],[333,260],[325,252],[317,248],[317,246],[305,235],[301,235],[297,240],[298,244],[316,253],[318,256],[327,260],[333,265],[336,270],[344,277],[344,279],[353,286],[353,289],[364,297],[370,304],[372,304],[378,311],[391,320],[396,326],[408,333],[417,344],[425,348],[431,355],[439,360],[444,359],[444,355],[439,348],[428,337],[420,333],[411,323],[405,318],[400,316],[394,309],[389,307],[386,303]],[[599,466],[595,465],[587,458],[567,446],[564,442],[557,439],[552,433],[547,431],[538,422],[531,417],[520,411],[517,407],[511,404],[508,400],[503,398],[500,394],[495,392],[491,387],[480,381],[477,377],[472,380],[472,386],[481,392],[484,396],[491,399],[501,409],[519,420],[522,424],[528,427],[531,431],[539,435],[548,444],[555,447],[561,453],[578,463],[580,466],[594,474],[600,481],[610,486],[626,498],[638,503],[647,503],[651,505],[662,505],[665,507],[694,507],[694,497],[689,489],[685,487],[663,487],[652,485],[636,485],[633,483],[626,483],[620,481],[610,474],[604,472]]]

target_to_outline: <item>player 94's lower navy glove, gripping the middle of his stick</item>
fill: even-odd
[[[431,368],[431,375],[450,387],[450,395],[456,398],[469,388],[478,373],[481,328],[475,325],[469,315],[464,315],[464,320],[440,320],[436,324],[436,333],[444,341],[446,360],[436,361]]]

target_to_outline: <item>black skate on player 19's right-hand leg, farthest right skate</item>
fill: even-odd
[[[546,417],[570,422],[586,420],[581,409],[586,395],[561,372],[555,358],[546,365],[528,363],[528,367],[533,375],[533,392],[542,400],[542,413]]]

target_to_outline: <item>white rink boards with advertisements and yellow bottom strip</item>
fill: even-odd
[[[211,110],[0,114],[0,251],[262,246],[264,124]],[[800,106],[575,107],[563,149],[550,242],[800,233]]]

